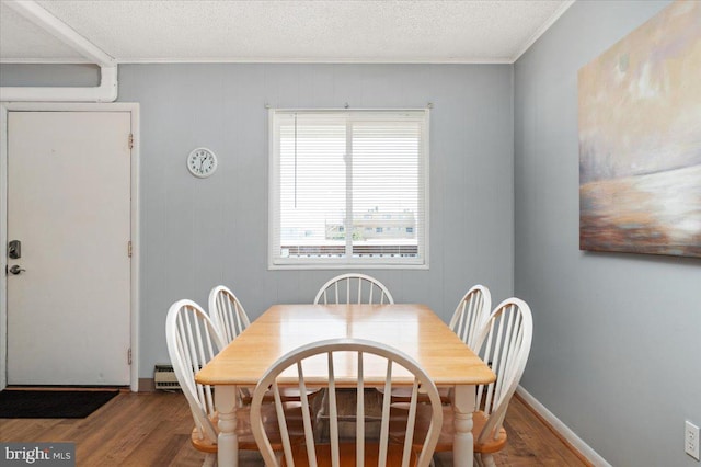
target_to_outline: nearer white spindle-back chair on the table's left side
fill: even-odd
[[[191,441],[193,446],[205,453],[204,466],[217,464],[217,412],[214,403],[211,386],[200,385],[195,381],[197,372],[209,362],[223,342],[205,310],[192,300],[175,301],[168,311],[165,318],[165,340],[168,353],[177,377],[177,383],[187,399],[189,410],[195,421]],[[301,420],[301,405],[287,402],[285,410],[291,420]],[[264,409],[267,429],[271,430],[275,448],[281,448],[279,434],[275,435],[277,419],[273,406]],[[294,440],[301,441],[298,434]],[[239,449],[257,451],[257,444],[251,433],[250,410],[239,408],[237,410],[237,435]],[[296,437],[295,437],[296,436]]]

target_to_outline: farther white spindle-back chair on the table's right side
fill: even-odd
[[[484,285],[470,288],[456,308],[450,319],[450,329],[474,350],[482,323],[492,310],[492,294]]]

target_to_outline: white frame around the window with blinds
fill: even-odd
[[[279,138],[276,138],[276,115],[289,113],[310,113],[332,115],[338,114],[361,114],[361,113],[418,113],[423,115],[422,148],[420,155],[418,169],[418,196],[420,208],[423,209],[423,226],[418,224],[414,229],[420,228],[417,238],[418,258],[283,258],[276,253],[279,247],[280,229],[276,228],[276,223],[280,219],[280,151]],[[429,269],[429,109],[268,109],[268,270],[345,270],[345,269],[403,269],[403,270],[427,270]],[[278,226],[279,227],[279,226]]]

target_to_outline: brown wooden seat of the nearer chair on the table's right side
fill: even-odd
[[[392,405],[390,411],[392,418],[401,419],[401,414],[406,413],[407,405],[395,403]],[[453,422],[452,406],[443,407],[443,426],[440,429],[440,436],[438,437],[438,444],[436,445],[436,452],[449,452],[452,451],[452,440],[456,434],[456,428]],[[498,435],[495,440],[489,440],[484,443],[478,443],[478,436],[482,433],[484,425],[489,417],[482,412],[472,413],[472,436],[474,438],[474,452],[482,454],[496,453],[506,444],[506,430],[501,428]],[[416,410],[416,425],[414,428],[414,440],[412,441],[414,446],[421,445],[426,438],[428,433],[428,426],[430,425],[430,408],[428,406],[418,406]],[[404,431],[404,424],[399,423],[395,429],[392,429],[392,422],[390,421],[390,440],[395,443],[403,443],[406,432]]]

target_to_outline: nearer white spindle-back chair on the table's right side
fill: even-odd
[[[532,335],[533,320],[528,305],[518,298],[507,298],[490,314],[476,338],[475,348],[480,357],[496,374],[495,383],[478,386],[476,390],[479,410],[472,414],[472,435],[479,465],[494,466],[492,455],[506,445],[506,430],[503,426],[506,409],[524,374]],[[394,405],[393,408],[394,417],[399,417],[398,410],[406,411],[403,403]],[[420,407],[414,443],[423,440],[423,432],[429,420],[429,413]],[[452,407],[444,406],[443,429],[436,451],[451,451],[453,436]],[[401,442],[405,433],[393,430],[391,437]]]

